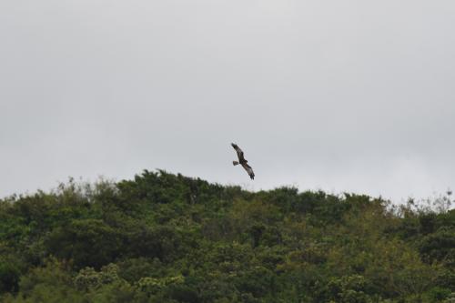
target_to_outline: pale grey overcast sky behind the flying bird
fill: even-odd
[[[454,15],[452,0],[0,1],[0,197],[146,168],[395,202],[454,189]]]

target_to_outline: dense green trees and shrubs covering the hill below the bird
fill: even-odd
[[[0,301],[455,302],[455,210],[432,202],[70,180],[0,200]]]

